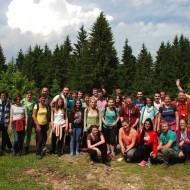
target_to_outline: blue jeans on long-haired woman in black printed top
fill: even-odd
[[[76,143],[76,152],[79,152],[81,133],[82,133],[82,128],[73,128],[70,140],[70,152],[74,152],[75,143]]]

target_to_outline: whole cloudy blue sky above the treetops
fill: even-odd
[[[0,5],[0,45],[7,62],[30,45],[47,43],[53,51],[67,35],[75,43],[82,24],[90,32],[101,11],[120,59],[126,39],[135,56],[144,43],[155,57],[162,41],[190,37],[190,0],[0,0]]]

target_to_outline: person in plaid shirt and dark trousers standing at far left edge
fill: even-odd
[[[1,91],[0,93],[0,131],[2,131],[2,143],[0,155],[4,154],[6,145],[9,150],[12,149],[12,143],[10,141],[7,129],[10,121],[10,107],[11,103],[8,100],[7,91]]]

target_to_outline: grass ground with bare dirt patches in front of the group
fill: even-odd
[[[34,152],[0,157],[0,190],[188,190],[189,179],[190,165],[184,164],[163,169],[161,165],[140,167],[114,159],[107,167],[90,165],[86,153],[70,158],[68,152],[59,158],[46,155],[42,160],[36,160]]]

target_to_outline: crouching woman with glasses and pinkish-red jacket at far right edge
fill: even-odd
[[[187,120],[185,118],[180,119],[180,130],[176,131],[179,157],[185,158],[185,163],[190,164],[190,128],[187,126]]]

